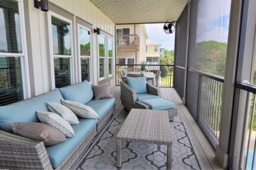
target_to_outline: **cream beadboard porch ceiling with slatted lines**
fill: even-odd
[[[90,0],[115,24],[177,21],[188,0]]]

